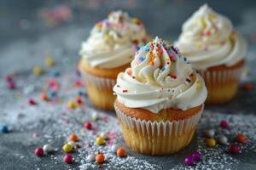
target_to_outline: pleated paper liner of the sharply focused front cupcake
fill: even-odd
[[[180,121],[150,122],[126,116],[114,106],[125,143],[143,154],[167,155],[182,150],[189,144],[195,133],[201,111]]]

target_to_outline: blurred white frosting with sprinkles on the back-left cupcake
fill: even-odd
[[[137,46],[145,41],[146,31],[140,20],[114,11],[94,26],[79,54],[92,67],[111,69],[130,63]]]

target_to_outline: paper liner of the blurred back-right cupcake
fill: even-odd
[[[243,67],[225,71],[199,71],[206,82],[207,104],[221,104],[234,97]]]

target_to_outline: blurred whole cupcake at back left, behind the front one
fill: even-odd
[[[79,70],[93,105],[113,110],[113,85],[120,71],[130,65],[139,46],[147,42],[143,23],[122,11],[108,14],[82,42]]]

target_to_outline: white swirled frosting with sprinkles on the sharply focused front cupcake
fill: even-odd
[[[131,68],[119,73],[113,88],[120,103],[153,113],[187,110],[207,99],[204,80],[170,42],[155,37],[140,48]]]

